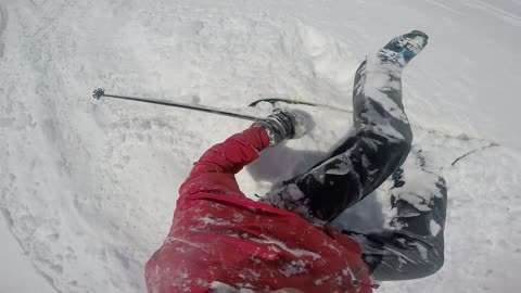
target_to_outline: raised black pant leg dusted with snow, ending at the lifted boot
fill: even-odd
[[[330,221],[391,176],[407,157],[412,140],[402,103],[404,66],[381,54],[363,62],[353,91],[354,133],[263,201],[310,221]]]

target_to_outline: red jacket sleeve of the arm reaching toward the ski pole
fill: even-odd
[[[266,131],[260,127],[251,127],[209,148],[194,163],[190,175],[181,184],[178,201],[201,192],[244,196],[234,175],[258,158],[258,152],[268,144],[269,138]]]

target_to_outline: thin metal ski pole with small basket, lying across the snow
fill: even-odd
[[[225,115],[225,116],[229,116],[229,117],[233,117],[233,118],[240,118],[240,119],[252,120],[252,122],[264,119],[264,118],[259,118],[259,117],[255,117],[255,116],[243,115],[243,114],[239,114],[239,113],[234,113],[234,112],[224,111],[224,110],[209,107],[209,106],[203,106],[203,105],[189,105],[189,104],[176,103],[176,102],[170,102],[170,101],[165,101],[165,100],[160,100],[160,99],[152,99],[152,98],[125,97],[125,95],[117,95],[117,94],[107,94],[101,88],[98,88],[98,89],[92,91],[92,98],[94,98],[96,100],[100,100],[101,97],[113,98],[113,99],[122,99],[122,100],[128,100],[128,101],[136,101],[136,102],[143,102],[143,103],[157,104],[157,105],[182,107],[182,109],[207,112],[207,113]]]

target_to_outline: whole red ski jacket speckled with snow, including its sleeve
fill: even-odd
[[[147,263],[150,292],[213,292],[218,283],[254,292],[372,292],[356,242],[241,192],[234,175],[267,145],[266,131],[253,127],[194,164],[168,237]]]

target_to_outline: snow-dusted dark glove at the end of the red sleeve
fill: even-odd
[[[296,139],[307,132],[304,118],[294,111],[276,109],[268,117],[255,122],[266,130],[269,137],[269,146],[274,146],[284,139]]]

